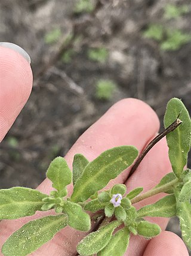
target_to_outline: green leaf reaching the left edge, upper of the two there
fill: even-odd
[[[10,189],[0,190],[0,219],[18,219],[24,216],[35,214],[36,210],[41,210],[47,195],[19,186]]]

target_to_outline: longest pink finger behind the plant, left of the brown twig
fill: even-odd
[[[82,153],[91,161],[104,150],[123,144],[133,144],[138,150],[142,150],[147,141],[156,134],[158,128],[158,118],[149,106],[134,99],[119,101],[76,141],[67,153],[66,160],[72,167],[75,153]],[[116,181],[123,183],[127,175],[128,172],[124,171]],[[71,189],[70,187],[70,191]],[[48,194],[51,191],[50,181],[46,179],[41,183],[39,190]],[[43,214],[41,213],[41,216]],[[27,220],[32,218],[27,218]],[[26,222],[26,218],[18,221],[2,221],[0,228],[4,230],[4,233],[0,238],[1,244],[14,230],[20,228],[23,222]],[[82,236],[84,236],[82,232],[69,227],[64,228],[56,234],[51,242],[42,246],[32,255],[43,255],[47,250],[57,256],[75,255],[76,244]]]

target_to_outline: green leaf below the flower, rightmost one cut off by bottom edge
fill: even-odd
[[[123,256],[127,250],[130,240],[130,231],[127,227],[122,228],[116,232],[106,247],[104,247],[97,256]]]

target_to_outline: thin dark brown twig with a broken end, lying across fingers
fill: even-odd
[[[179,117],[179,115],[178,115]],[[158,134],[155,138],[153,138],[152,141],[150,141],[150,143],[147,145],[147,147],[143,150],[142,153],[140,153],[140,155],[138,155],[137,160],[135,161],[133,167],[131,168],[130,174],[128,176],[128,178],[134,173],[134,171],[137,169],[138,165],[140,164],[140,162],[143,160],[144,156],[146,156],[146,154],[149,152],[150,149],[152,149],[153,146],[155,146],[155,144],[161,140],[161,138],[165,137],[165,135],[167,135],[168,133],[170,133],[171,131],[174,131],[175,128],[178,127],[178,125],[180,125],[182,123],[182,121],[180,119],[175,119],[175,121],[169,125],[169,127],[167,127],[166,129],[164,129],[164,131],[162,131],[160,134]]]

